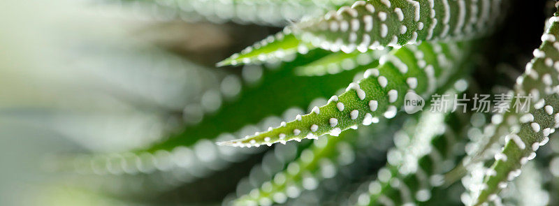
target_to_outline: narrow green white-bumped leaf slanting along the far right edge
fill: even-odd
[[[542,36],[542,45],[533,52],[535,58],[517,79],[515,88],[516,94],[530,94],[534,103],[530,112],[518,115],[518,123],[511,127],[502,152],[495,154],[495,163],[486,172],[483,184],[473,190],[471,204],[481,205],[489,200],[499,200],[495,193],[506,187],[507,181],[520,175],[521,165],[535,158],[537,149],[549,142],[549,135],[559,126],[559,80],[553,78],[559,74],[555,66],[559,60],[559,48],[556,46],[559,13],[555,13],[548,23]]]

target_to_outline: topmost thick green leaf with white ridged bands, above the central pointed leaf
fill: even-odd
[[[324,17],[303,21],[294,32],[325,50],[365,52],[431,40],[463,41],[491,30],[500,0],[356,1]]]

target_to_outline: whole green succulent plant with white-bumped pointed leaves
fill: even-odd
[[[477,59],[500,38],[493,32],[506,24],[507,0],[121,3],[183,20],[284,28],[219,61],[242,66],[242,78],[227,75],[221,90],[204,94],[202,107],[213,109],[185,109],[180,131],[126,153],[65,157],[60,168],[123,182],[154,178],[168,183],[164,191],[249,173],[224,205],[500,205],[522,202],[510,193],[525,186],[509,185],[553,191],[529,177],[542,165],[514,178],[559,127],[559,12],[514,87],[494,94],[532,104],[518,112],[492,99],[481,113],[456,102],[433,108],[445,96],[477,100],[491,89],[477,80]],[[409,97],[431,110],[406,114]],[[542,161],[557,165],[549,159]],[[440,195],[453,188],[461,195]]]

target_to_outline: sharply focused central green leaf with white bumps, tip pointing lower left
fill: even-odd
[[[437,85],[456,73],[470,47],[470,43],[422,43],[394,50],[377,68],[365,71],[363,80],[349,84],[344,94],[332,96],[328,104],[313,108],[310,114],[269,131],[220,144],[250,147],[313,139],[326,133],[339,135],[359,124],[370,125],[380,117],[391,119],[408,89],[422,96],[432,94]]]

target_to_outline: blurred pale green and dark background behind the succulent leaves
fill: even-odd
[[[482,55],[479,85],[493,86],[486,78],[493,73],[522,71],[539,45],[551,1],[514,2],[496,34],[506,37],[493,37]],[[173,186],[159,184],[166,176],[157,174],[79,175],[52,163],[61,154],[146,147],[200,122],[224,101],[235,101],[245,84],[261,84],[261,68],[215,64],[289,23],[197,17],[166,3],[0,2],[0,205],[219,205],[242,191],[238,182],[266,152],[245,152],[254,155],[219,166],[225,169],[191,172],[189,180],[169,180]],[[281,15],[298,19],[297,12]],[[219,150],[213,142],[199,150]],[[368,170],[384,165],[384,153],[373,154],[378,162]],[[196,161],[205,159],[211,157]]]

